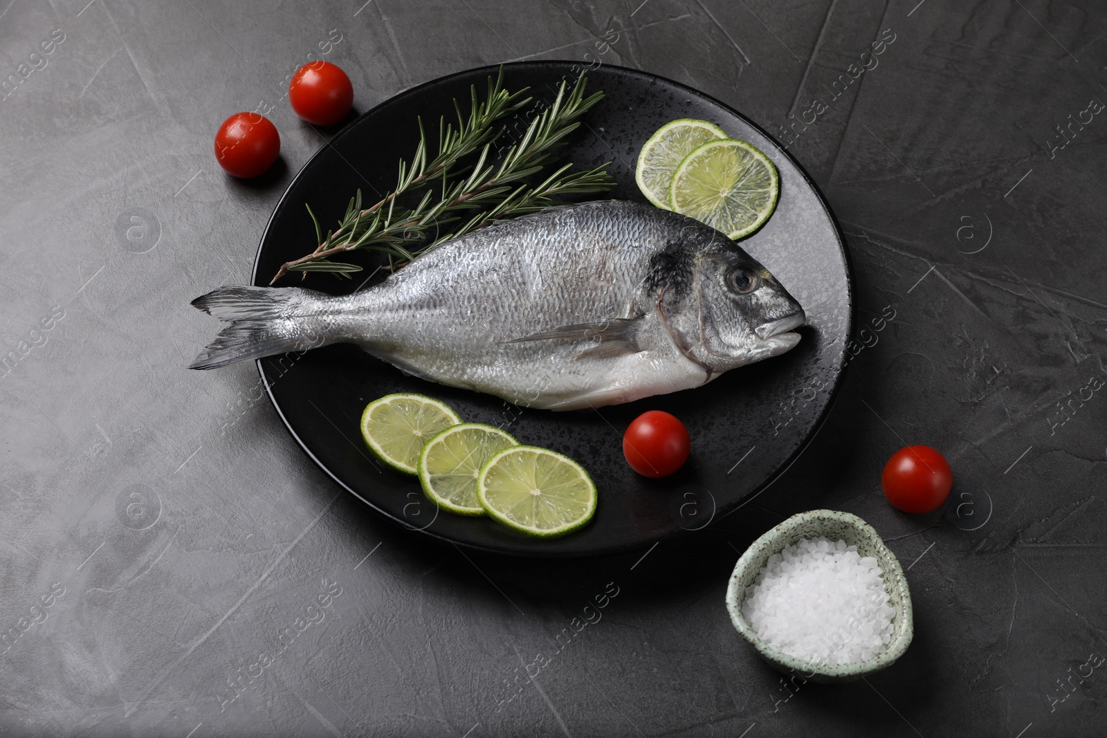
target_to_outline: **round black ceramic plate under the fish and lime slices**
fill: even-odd
[[[524,62],[504,70],[508,90],[530,86],[536,105],[552,101],[571,79],[571,62]],[[497,67],[461,72],[420,85],[382,103],[335,135],[300,170],[273,211],[255,263],[254,283],[266,284],[278,267],[307,253],[314,231],[304,210],[333,224],[361,188],[375,201],[396,175],[396,160],[417,142],[416,116],[428,132],[453,100],[467,111],[469,86],[487,87]],[[351,345],[310,351],[300,357],[258,362],[269,396],[311,458],[342,487],[382,514],[427,536],[485,550],[527,555],[582,555],[646,547],[697,530],[734,512],[764,490],[803,450],[827,413],[845,364],[850,325],[849,267],[841,235],[823,197],[800,167],[761,128],[718,101],[662,77],[602,66],[589,73],[589,91],[606,94],[583,119],[565,155],[580,167],[611,160],[615,199],[645,199],[634,184],[634,163],[646,138],[673,118],[712,121],[751,142],[780,173],[776,212],[742,247],[772,271],[804,305],[810,325],[790,352],[733,370],[696,389],[640,399],[599,412],[551,413],[508,405],[497,397],[404,376]],[[520,125],[520,129],[525,126]],[[371,199],[372,198],[372,199]],[[371,254],[354,254],[373,271]],[[380,281],[383,272],[370,282]],[[339,280],[312,274],[286,278],[330,293],[358,289],[364,277]],[[599,506],[584,529],[555,540],[534,540],[487,518],[438,512],[414,477],[371,458],[359,430],[365,404],[393,392],[417,392],[452,405],[466,420],[504,427],[521,443],[568,454],[587,468]],[[639,414],[676,415],[692,437],[692,456],[672,477],[638,476],[623,460],[622,432]]]

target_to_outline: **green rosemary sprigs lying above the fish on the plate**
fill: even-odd
[[[602,165],[589,171],[571,171],[567,164],[538,185],[525,181],[555,160],[554,150],[566,136],[580,125],[579,118],[599,102],[603,93],[584,97],[587,80],[577,79],[566,92],[562,81],[552,105],[531,121],[523,138],[503,156],[499,164],[489,160],[492,146],[503,133],[494,132],[496,121],[518,111],[530,102],[519,100],[527,90],[507,93],[503,89],[503,70],[493,82],[488,80],[488,96],[477,101],[472,87],[472,106],[468,118],[462,116],[457,101],[458,125],[438,125],[438,154],[427,162],[426,136],[420,122],[420,143],[411,164],[400,162],[396,186],[379,202],[362,209],[361,190],[350,199],[345,215],[335,230],[325,237],[310,206],[308,212],[315,227],[318,247],[311,253],[284,263],[270,284],[289,271],[328,271],[341,277],[360,271],[356,264],[332,261],[331,257],[358,249],[382,251],[389,257],[390,267],[411,261],[430,248],[457,238],[494,220],[535,212],[562,202],[563,197],[601,193],[614,186]],[[479,149],[476,160],[463,165],[462,159]],[[397,205],[401,196],[420,187],[427,188],[414,207]],[[463,221],[464,211],[477,210]],[[461,222],[443,235],[443,227]],[[438,233],[432,238],[432,231]]]

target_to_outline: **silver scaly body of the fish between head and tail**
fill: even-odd
[[[328,312],[345,316],[345,340],[435,382],[544,407],[589,394],[607,404],[599,395],[634,382],[621,371],[643,364],[662,374],[671,362],[684,377],[690,362],[675,350],[620,362],[578,358],[583,341],[511,341],[631,316],[645,297],[650,258],[685,222],[610,201],[504,221],[439,246]],[[702,382],[702,370],[692,371]]]

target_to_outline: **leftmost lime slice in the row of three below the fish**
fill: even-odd
[[[439,430],[457,425],[454,409],[425,395],[385,395],[365,406],[361,436],[376,456],[404,474],[416,474],[423,444]]]

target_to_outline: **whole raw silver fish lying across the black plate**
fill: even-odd
[[[349,342],[425,380],[555,410],[700,386],[788,351],[805,322],[724,233],[618,200],[497,222],[345,297],[223,287],[193,304],[230,324],[190,368]]]

